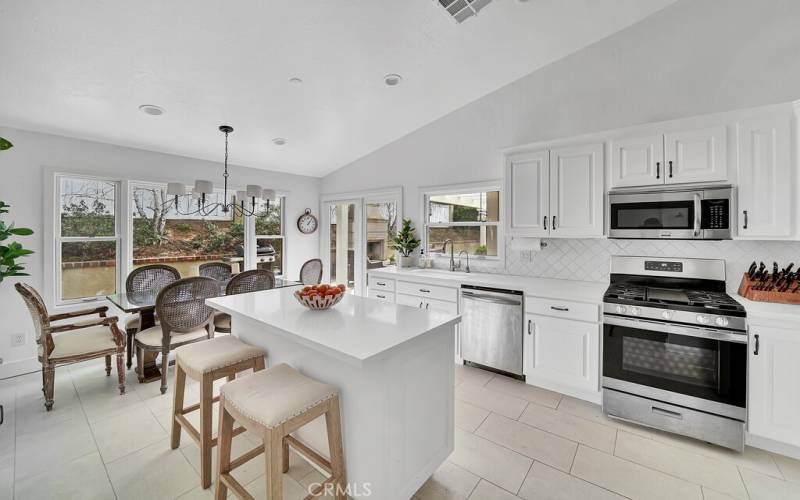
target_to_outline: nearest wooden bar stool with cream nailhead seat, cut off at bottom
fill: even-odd
[[[330,460],[290,436],[322,415],[328,431]],[[234,420],[262,436],[264,444],[231,460]],[[289,470],[290,446],[329,475],[306,500],[315,498],[326,485],[333,485],[336,500],[347,498],[339,393],[335,387],[306,377],[289,365],[280,364],[220,388],[218,437],[216,500],[224,500],[228,488],[238,498],[253,498],[231,476],[231,471],[261,453],[267,463],[267,500],[282,500],[283,473]]]

